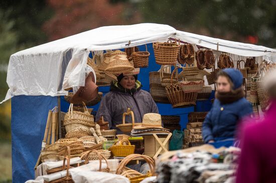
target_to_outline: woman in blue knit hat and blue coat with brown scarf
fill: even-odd
[[[251,103],[244,97],[242,82],[243,76],[237,69],[225,68],[218,72],[215,100],[202,127],[205,143],[216,148],[233,145],[238,123],[253,112]]]

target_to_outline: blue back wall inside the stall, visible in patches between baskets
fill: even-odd
[[[155,62],[155,57],[154,57],[154,51],[153,51],[153,44],[147,44],[148,46],[148,51],[151,53],[149,57],[149,67],[146,68],[140,68],[140,73],[138,75],[138,80],[141,81],[143,87],[142,89],[149,91],[150,92],[150,79],[149,79],[149,72],[151,71],[157,71],[160,69],[161,65],[157,64]],[[143,51],[145,50],[145,45],[138,46],[139,50]],[[123,50],[123,49],[121,49]],[[89,56],[92,56],[90,54]],[[174,67],[173,67],[174,68]],[[180,70],[179,70],[180,71]],[[101,86],[99,87],[99,91],[103,92],[103,95],[109,92],[109,86]],[[210,96],[210,98],[213,98],[214,94]],[[191,107],[185,107],[185,108],[172,108],[171,104],[163,104],[163,103],[157,103],[159,113],[161,115],[180,115],[181,121],[181,128],[184,129],[186,128],[186,124],[188,122],[188,114],[189,112],[193,111],[209,111],[211,108],[211,101],[210,100],[205,100],[205,101],[197,101],[196,106],[191,106]],[[69,107],[69,103],[64,100],[64,97],[61,97],[61,110],[64,112],[67,112]],[[99,107],[99,103],[91,106],[89,108],[93,108],[93,110],[97,110]],[[141,121],[138,121],[141,122]]]

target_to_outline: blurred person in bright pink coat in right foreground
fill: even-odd
[[[276,182],[276,69],[263,82],[270,105],[261,122],[247,123],[241,134],[236,183]]]

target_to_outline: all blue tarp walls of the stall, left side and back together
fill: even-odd
[[[145,50],[145,46],[139,46]],[[160,65],[155,62],[152,44],[148,44],[149,67],[141,68],[138,79],[143,89],[150,91],[149,72],[157,71]],[[103,94],[109,91],[109,86],[99,87]],[[210,98],[214,97],[214,94]],[[157,103],[162,115],[180,115],[181,127],[188,122],[188,113],[192,111],[208,111],[211,101],[197,101],[196,106],[172,108],[171,104]],[[34,167],[40,154],[41,143],[47,122],[49,109],[57,106],[57,97],[51,96],[14,96],[12,98],[12,158],[13,182],[25,182],[35,177]],[[99,103],[90,108],[97,110]],[[67,112],[69,103],[61,96],[61,111]]]

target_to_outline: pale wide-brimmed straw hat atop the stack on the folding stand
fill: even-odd
[[[159,113],[146,113],[143,117],[142,124],[134,126],[134,129],[149,129],[149,128],[160,128],[160,129],[169,130],[162,127],[161,115]]]

